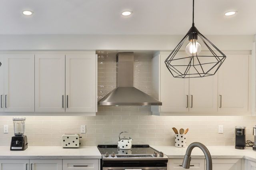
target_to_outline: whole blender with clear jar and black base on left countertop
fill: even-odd
[[[14,136],[12,136],[10,150],[25,150],[28,148],[28,139],[24,135],[25,132],[25,117],[12,118],[14,126]]]

